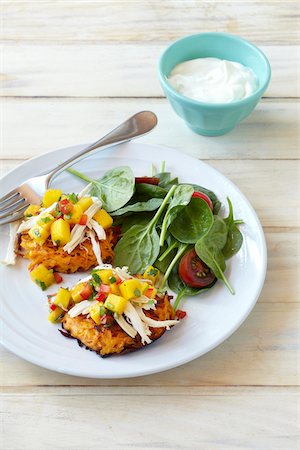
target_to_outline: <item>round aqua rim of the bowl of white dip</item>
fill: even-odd
[[[162,65],[164,62],[164,59],[166,57],[167,52],[172,48],[175,47],[176,45],[178,45],[179,42],[185,41],[185,40],[189,40],[191,38],[196,38],[196,37],[200,37],[200,36],[219,36],[219,37],[225,37],[225,38],[229,38],[235,41],[239,41],[243,44],[246,44],[246,46],[251,47],[254,51],[256,51],[261,58],[264,60],[266,67],[267,67],[267,71],[266,71],[266,80],[263,83],[263,85],[256,89],[253,94],[249,95],[248,97],[245,97],[241,100],[235,100],[233,102],[228,102],[228,103],[209,103],[209,102],[203,102],[201,100],[195,100],[193,98],[187,97],[186,95],[180,94],[179,92],[177,92],[167,81],[167,77],[166,75],[164,75],[164,71],[162,70]],[[196,58],[195,58],[196,59]],[[187,61],[187,60],[186,60]],[[184,61],[182,61],[184,62]],[[174,66],[175,67],[175,66]],[[173,68],[174,68],[173,67]],[[230,33],[223,33],[223,32],[218,32],[218,31],[214,31],[214,32],[207,32],[207,33],[195,33],[195,34],[189,34],[187,36],[184,36],[182,38],[177,39],[176,41],[172,42],[170,45],[168,45],[168,47],[163,51],[163,53],[160,55],[159,61],[158,61],[158,76],[159,76],[159,81],[162,85],[162,87],[164,89],[166,89],[172,96],[174,96],[175,98],[177,98],[177,100],[181,100],[184,102],[189,102],[195,106],[205,106],[206,108],[211,108],[211,109],[216,109],[216,108],[225,108],[225,109],[229,109],[232,106],[243,106],[246,105],[247,103],[253,101],[253,100],[257,100],[259,98],[262,97],[263,93],[266,91],[269,83],[270,83],[270,79],[271,79],[271,65],[270,62],[268,60],[268,58],[266,57],[266,55],[255,45],[252,44],[252,42],[241,38],[240,36],[236,36],[234,34],[230,34]]]

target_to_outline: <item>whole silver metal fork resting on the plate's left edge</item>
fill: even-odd
[[[8,192],[0,199],[0,225],[14,222],[23,217],[25,209],[30,203],[40,203],[43,192],[48,188],[54,177],[63,170],[82,159],[93,150],[107,148],[111,145],[127,142],[133,138],[149,133],[157,124],[157,117],[151,111],[141,111],[117,128],[106,134],[92,145],[84,148],[76,155],[67,159],[51,172],[29,178],[19,187]]]

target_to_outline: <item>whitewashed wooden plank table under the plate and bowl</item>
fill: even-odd
[[[299,448],[299,3],[1,5],[2,173],[51,149],[93,141],[151,109],[159,125],[144,142],[205,160],[236,183],[260,217],[269,252],[264,289],[243,326],[177,369],[129,380],[83,379],[2,348],[1,448]],[[255,112],[218,138],[187,129],[156,77],[166,45],[201,31],[251,40],[273,70]]]

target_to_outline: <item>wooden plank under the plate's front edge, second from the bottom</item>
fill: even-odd
[[[33,366],[2,349],[0,357],[5,370],[1,373],[1,384],[32,386],[33,392],[37,385],[299,385],[299,313],[296,303],[258,303],[239,330],[215,350],[176,369],[132,379],[96,380],[58,374]]]

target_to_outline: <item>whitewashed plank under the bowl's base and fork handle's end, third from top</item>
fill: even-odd
[[[4,159],[93,142],[144,109],[154,111],[159,123],[141,142],[177,148],[201,159],[300,158],[300,102],[294,100],[263,100],[232,132],[217,138],[193,133],[165,99],[2,98],[0,102]]]

